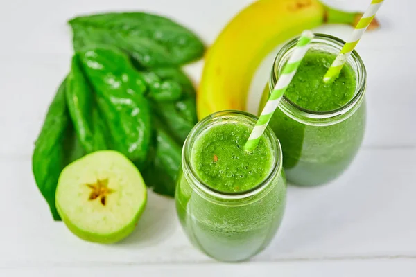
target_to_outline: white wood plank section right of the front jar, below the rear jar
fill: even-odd
[[[345,175],[291,187],[279,238],[259,259],[416,254],[416,150],[362,150]]]

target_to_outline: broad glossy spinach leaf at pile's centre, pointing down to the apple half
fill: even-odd
[[[112,148],[140,168],[146,161],[152,128],[143,76],[117,48],[85,48],[78,55],[107,123]]]

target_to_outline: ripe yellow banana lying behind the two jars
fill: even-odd
[[[207,51],[197,93],[198,118],[224,109],[245,109],[257,67],[278,44],[325,23],[354,26],[362,15],[329,8],[318,0],[252,3],[227,24]],[[376,27],[373,20],[369,30]]]

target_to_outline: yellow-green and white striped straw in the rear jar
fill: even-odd
[[[371,21],[376,16],[376,12],[381,7],[383,1],[384,0],[371,1],[370,7],[367,8],[363,17],[361,17],[357,26],[354,28],[354,32],[352,33],[349,42],[345,43],[336,59],[332,62],[331,67],[329,67],[327,73],[324,75],[324,82],[330,82],[338,77],[338,74],[340,73],[341,69],[343,69],[345,62],[347,62],[349,55],[351,55],[355,46],[363,36],[365,30],[367,30]]]

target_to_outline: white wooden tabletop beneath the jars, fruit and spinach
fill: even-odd
[[[327,0],[365,10],[368,1]],[[194,249],[172,199],[150,193],[137,230],[114,245],[84,242],[53,222],[31,172],[46,109],[69,70],[74,15],[147,10],[195,30],[207,44],[250,0],[3,0],[0,2],[0,276],[416,276],[416,3],[387,0],[382,28],[358,45],[368,71],[363,148],[345,175],[288,189],[284,222],[266,251],[221,264]],[[322,32],[347,38],[351,28]],[[270,61],[252,91],[261,91]],[[187,66],[198,83],[202,62]],[[250,109],[256,107],[256,93]],[[198,275],[197,275],[198,274]]]

